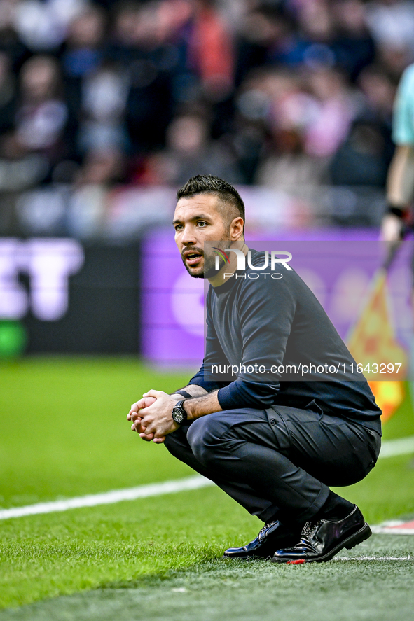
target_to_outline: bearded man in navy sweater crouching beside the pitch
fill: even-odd
[[[247,371],[298,360],[334,359],[345,368],[354,360],[294,270],[249,278],[263,253],[250,249],[244,275],[240,252],[223,253],[249,252],[233,186],[198,175],[177,199],[173,224],[184,266],[209,280],[206,354],[188,386],[173,395],[149,390],[127,419],[143,440],[164,443],[264,522],[256,539],[224,558],[329,561],[371,536],[359,508],[329,486],[360,481],[375,466],[381,412],[361,376],[277,381]],[[209,250],[205,242],[216,240],[216,252]],[[236,379],[212,376],[223,363],[240,368]]]

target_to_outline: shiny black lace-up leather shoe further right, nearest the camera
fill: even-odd
[[[299,543],[277,550],[271,560],[275,563],[330,561],[344,547],[350,550],[371,535],[364,516],[354,505],[350,515],[337,522],[329,519],[306,522]]]

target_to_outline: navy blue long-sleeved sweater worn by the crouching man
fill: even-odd
[[[263,265],[263,258],[263,253],[251,250],[252,265]],[[373,393],[310,288],[284,266],[279,269],[282,277],[271,278],[270,270],[264,271],[268,277],[255,272],[249,278],[254,270],[248,267],[222,286],[209,287],[205,358],[188,383],[207,391],[219,389],[223,410],[316,407],[380,431],[381,411]],[[327,364],[338,372],[280,372],[282,365],[298,369],[299,364],[319,366],[319,370]],[[233,381],[223,375],[224,365],[239,367],[240,372],[231,376]],[[259,374],[258,366],[265,373]]]

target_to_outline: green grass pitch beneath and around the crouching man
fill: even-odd
[[[126,421],[144,391],[170,392],[188,377],[133,358],[2,363],[0,507],[190,475]],[[414,434],[408,399],[384,432],[387,439]],[[380,460],[366,480],[341,493],[372,524],[413,515],[413,456]],[[214,487],[2,521],[0,621],[412,616],[414,537],[373,536],[326,564],[220,559],[259,527]]]

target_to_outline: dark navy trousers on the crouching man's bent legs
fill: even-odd
[[[366,477],[380,443],[361,424],[287,406],[207,414],[165,438],[174,457],[251,515],[297,524],[322,508],[329,486]]]

